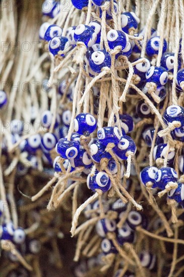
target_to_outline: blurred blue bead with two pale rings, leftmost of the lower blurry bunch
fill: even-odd
[[[116,221],[110,219],[101,219],[96,224],[97,234],[105,238],[108,232],[114,232],[116,230]]]

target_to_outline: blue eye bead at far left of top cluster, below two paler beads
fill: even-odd
[[[53,37],[49,42],[49,51],[55,56],[59,55],[59,51],[67,50],[69,42],[66,37]],[[61,54],[63,56],[64,54]]]

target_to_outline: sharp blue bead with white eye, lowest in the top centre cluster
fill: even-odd
[[[91,70],[99,73],[103,67],[111,67],[111,56],[105,50],[95,51],[89,57],[89,66]]]

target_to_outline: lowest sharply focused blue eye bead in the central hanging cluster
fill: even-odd
[[[98,188],[106,192],[111,188],[111,180],[106,172],[96,170],[94,176],[87,176],[87,187],[93,191]]]

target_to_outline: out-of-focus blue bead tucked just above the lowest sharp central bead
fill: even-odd
[[[71,159],[70,162],[72,167],[84,166],[85,168],[90,168],[93,165],[91,157],[84,149],[80,149],[78,155]]]

